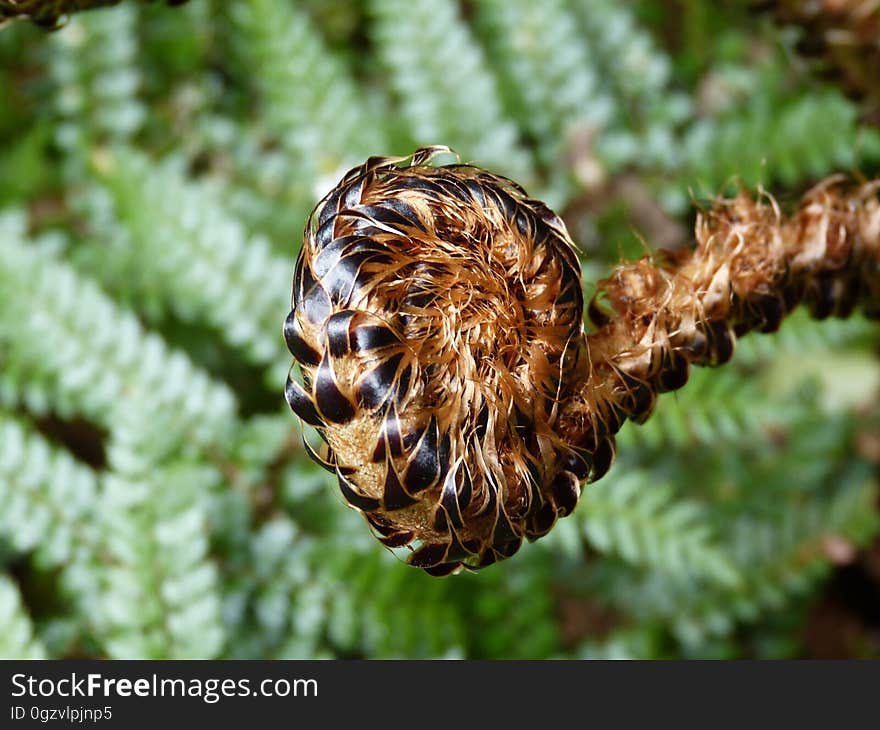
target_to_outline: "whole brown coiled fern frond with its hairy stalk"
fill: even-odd
[[[832,180],[791,219],[743,194],[698,247],[620,266],[583,329],[561,219],[448,148],[371,158],[315,208],[284,335],[309,453],[386,545],[434,575],[509,557],[601,477],[625,419],[798,302],[880,316],[876,185]]]

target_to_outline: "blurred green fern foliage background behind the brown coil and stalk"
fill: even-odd
[[[688,245],[716,194],[876,175],[821,37],[748,6],[132,1],[0,28],[0,656],[880,657],[860,316],[743,340],[548,537],[447,579],[372,538],[283,404],[306,216],[367,156],[448,144],[518,180],[588,291]]]

